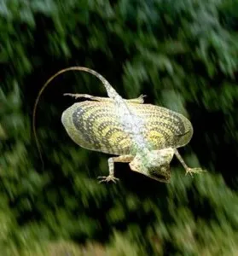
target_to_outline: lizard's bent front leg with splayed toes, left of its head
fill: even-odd
[[[112,181],[116,183],[119,181],[119,178],[114,177],[114,163],[130,163],[133,160],[134,156],[131,154],[120,155],[117,157],[110,157],[108,159],[109,175],[108,176],[99,176],[98,179],[101,179],[99,183]]]

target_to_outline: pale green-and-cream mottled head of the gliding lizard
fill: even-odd
[[[168,182],[171,177],[170,163],[173,154],[172,148],[149,151],[145,159],[141,154],[136,154],[129,165],[132,171],[140,172],[160,182]]]

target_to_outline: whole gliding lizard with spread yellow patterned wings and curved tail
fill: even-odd
[[[108,176],[101,182],[113,181],[114,163],[129,163],[131,171],[142,173],[157,181],[168,183],[171,178],[170,163],[174,155],[183,165],[186,174],[205,172],[190,168],[177,148],[189,143],[193,126],[181,113],[168,108],[144,104],[144,96],[124,99],[113,89],[107,79],[88,67],[67,67],[55,73],[38,93],[33,109],[33,132],[41,160],[42,154],[36,133],[36,110],[39,98],[48,84],[61,73],[83,71],[100,79],[108,97],[65,93],[87,101],[74,103],[61,115],[61,123],[69,137],[82,148],[116,156],[108,159]]]

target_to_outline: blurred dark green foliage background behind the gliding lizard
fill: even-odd
[[[0,1],[0,255],[238,255],[238,1]],[[32,137],[38,91],[64,67],[95,69],[125,98],[183,113],[194,137],[158,183],[78,147],[61,125],[73,98],[106,96],[66,73],[39,102],[41,168]]]

